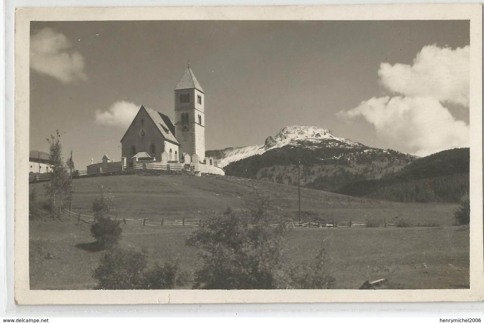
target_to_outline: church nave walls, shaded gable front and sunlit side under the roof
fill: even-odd
[[[141,119],[144,119],[143,124],[141,123]],[[144,131],[145,136],[141,136],[142,130]],[[160,134],[160,131],[153,123],[148,113],[146,113],[146,111],[142,109],[136,115],[134,123],[128,129],[126,135],[123,138],[123,141],[121,143],[121,156],[126,157],[128,160],[131,160],[131,157],[133,156],[133,154],[131,154],[131,147],[133,145],[136,147],[136,153],[147,152],[148,154],[151,154],[151,144],[155,145],[154,157],[156,158],[156,160],[161,160],[161,154],[163,153],[164,149],[167,149],[169,151],[169,149],[171,148],[173,154],[175,154],[175,150],[178,151],[177,145],[164,140],[163,135]]]

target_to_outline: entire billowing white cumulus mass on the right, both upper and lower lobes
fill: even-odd
[[[363,117],[378,137],[418,156],[469,147],[469,125],[442,103],[469,108],[469,46],[424,46],[412,65],[381,63],[381,84],[398,96],[373,97],[337,116]]]

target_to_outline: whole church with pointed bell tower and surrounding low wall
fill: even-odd
[[[103,162],[87,166],[88,174],[143,164],[147,169],[187,169],[194,174],[225,175],[216,160],[205,156],[205,92],[190,63],[175,89],[175,120],[141,106],[121,138],[121,162],[107,155]]]

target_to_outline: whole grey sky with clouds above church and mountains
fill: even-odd
[[[30,150],[121,159],[141,105],[174,116],[190,60],[207,150],[287,125],[425,156],[469,146],[469,21],[30,23]]]

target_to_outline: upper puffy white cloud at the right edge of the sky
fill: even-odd
[[[381,63],[378,76],[392,92],[469,107],[469,46],[424,46],[413,65]]]

